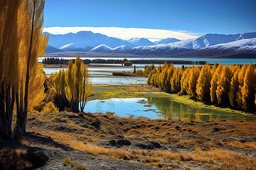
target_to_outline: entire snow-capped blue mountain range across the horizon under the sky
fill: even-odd
[[[188,40],[174,38],[151,42],[144,38],[122,40],[91,31],[49,34],[46,53],[97,52],[126,53],[144,56],[148,53],[159,57],[211,57],[246,54],[256,58],[256,32],[223,35],[208,33]]]

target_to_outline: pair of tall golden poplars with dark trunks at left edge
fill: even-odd
[[[13,139],[14,109],[14,137],[26,133],[31,87],[42,88],[36,81],[44,81],[37,57],[44,55],[48,42],[48,36],[42,35],[44,2],[0,1],[0,137],[4,140]]]

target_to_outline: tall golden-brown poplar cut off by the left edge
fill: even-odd
[[[0,1],[0,137],[11,139],[11,122],[18,88],[18,10],[22,1]]]

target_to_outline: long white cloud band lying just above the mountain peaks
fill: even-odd
[[[49,27],[44,28],[44,32],[52,34],[77,33],[79,31],[92,31],[93,33],[101,33],[109,37],[116,37],[128,40],[133,37],[146,38],[150,41],[157,41],[166,38],[176,38],[179,40],[191,39],[197,37],[195,33],[187,31],[172,31],[166,29],[150,29],[150,28],[120,28],[120,27]]]

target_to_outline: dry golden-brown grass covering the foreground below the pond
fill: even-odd
[[[67,146],[96,155],[106,155],[108,158],[133,160],[151,167],[163,168],[177,168],[174,165],[180,163],[181,167],[184,166],[183,168],[187,166],[187,163],[193,166],[206,164],[212,168],[255,165],[254,156],[250,157],[237,151],[255,150],[256,142],[251,138],[256,136],[256,122],[253,121],[180,122],[122,118],[112,114],[97,113],[56,113],[42,117],[34,115],[34,117],[35,120],[32,122],[35,124],[51,124],[53,127],[51,128],[53,130],[37,129],[38,133],[48,135],[53,140]],[[77,120],[80,122],[77,123]],[[90,125],[91,122],[99,122],[100,125],[93,127]],[[65,125],[65,130],[55,128],[60,125]],[[213,131],[213,128],[218,128],[220,131]],[[116,135],[109,134],[108,131]],[[120,139],[120,135],[130,142],[156,141],[167,148],[175,148],[176,145],[182,147],[177,151],[171,151],[141,150],[129,147],[106,148],[94,145],[98,142]],[[241,142],[237,141],[237,138],[248,140]],[[228,150],[230,147],[237,148],[237,150],[230,151]]]

